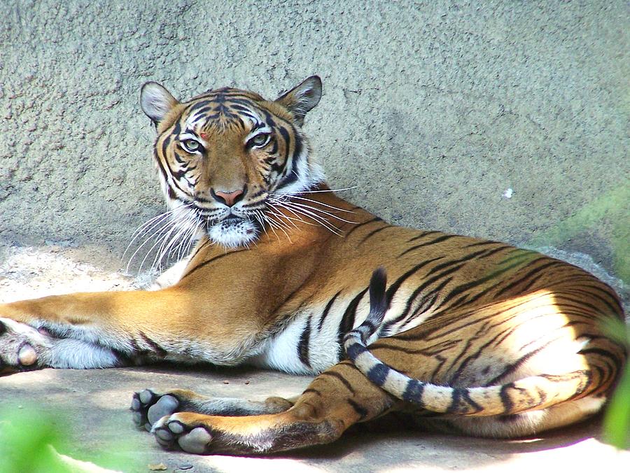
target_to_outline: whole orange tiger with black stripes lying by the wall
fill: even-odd
[[[303,130],[321,95],[318,76],[275,100],[144,84],[169,232],[192,250],[151,290],[1,304],[3,374],[171,362],[314,376],[289,399],[133,393],[139,430],[197,454],[303,449],[402,418],[524,437],[598,412],[626,361],[604,329],[624,318],[615,292],[533,250],[391,225],[339,197]]]

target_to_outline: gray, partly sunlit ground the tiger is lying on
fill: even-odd
[[[116,271],[119,266],[118,259],[99,248],[0,246],[0,300],[137,285],[137,280]],[[545,470],[575,467],[577,471],[605,468],[612,472],[622,471],[630,463],[630,451],[616,451],[601,442],[599,419],[517,441],[360,431],[336,444],[298,453],[239,458],[162,451],[150,435],[134,429],[127,411],[134,390],[147,387],[189,388],[221,397],[262,400],[269,395],[299,393],[309,381],[307,376],[252,369],[44,369],[0,378],[0,427],[7,414],[20,413],[20,409],[57,414],[57,425],[68,431],[69,440],[69,446],[58,449],[60,453],[125,472],[148,472],[150,465],[165,465],[167,471],[176,472],[225,473],[532,472],[543,466]],[[0,444],[0,458],[8,453],[3,449],[10,449],[10,443]],[[192,469],[182,470],[190,465]],[[84,470],[75,466],[73,471]]]

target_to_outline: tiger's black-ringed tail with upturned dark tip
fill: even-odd
[[[372,383],[400,400],[443,414],[496,416],[544,409],[569,400],[591,387],[587,369],[566,374],[540,374],[511,383],[454,388],[413,379],[376,358],[366,341],[381,325],[388,309],[386,273],[379,267],[370,279],[370,313],[344,337],[346,355]]]

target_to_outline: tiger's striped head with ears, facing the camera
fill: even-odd
[[[301,131],[320,98],[317,76],[275,101],[224,87],[180,102],[162,85],[144,84],[141,106],[158,131],[154,157],[174,232],[247,246],[274,200],[323,181]]]

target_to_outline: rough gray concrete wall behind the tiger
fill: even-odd
[[[630,280],[628,17],[622,0],[5,0],[0,239],[119,251],[162,210],[144,81],[274,98],[318,73],[306,129],[351,201]]]

